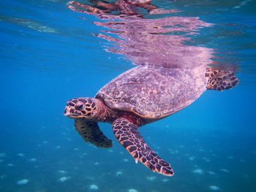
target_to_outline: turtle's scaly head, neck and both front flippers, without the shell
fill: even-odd
[[[132,112],[116,111],[107,107],[100,99],[76,98],[67,101],[64,115],[75,119],[75,129],[86,142],[97,147],[112,147],[110,139],[100,131],[97,122],[113,123],[113,132],[118,142],[135,158],[146,165],[151,171],[172,176],[173,169],[166,161],[151,150],[138,126],[146,122]],[[155,119],[157,120],[157,119]],[[151,120],[154,121],[154,120]]]

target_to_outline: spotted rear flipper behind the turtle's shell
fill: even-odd
[[[208,77],[206,88],[217,91],[233,88],[239,82],[234,72],[211,67],[208,67],[206,77]]]

